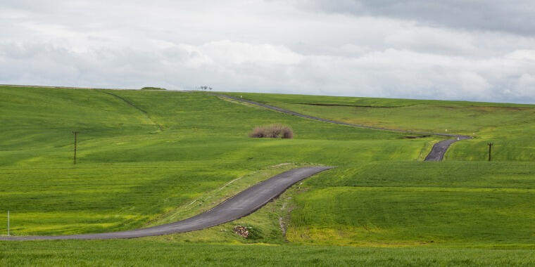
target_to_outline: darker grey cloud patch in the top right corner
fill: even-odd
[[[535,2],[530,0],[313,0],[298,4],[325,12],[381,15],[438,27],[535,35]]]

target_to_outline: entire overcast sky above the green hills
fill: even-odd
[[[0,84],[535,103],[533,0],[2,0],[0,37]]]

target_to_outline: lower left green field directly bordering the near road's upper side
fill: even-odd
[[[225,166],[183,161],[4,167],[0,202],[2,209],[11,210],[12,235],[127,230],[251,171]],[[5,221],[6,214],[0,218]],[[0,231],[6,233],[4,223]]]

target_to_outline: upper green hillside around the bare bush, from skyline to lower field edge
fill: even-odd
[[[378,149],[385,143],[402,150],[406,143],[399,133],[355,131],[248,108],[203,93],[8,87],[0,88],[0,101],[5,110],[0,116],[4,132],[0,150],[6,155],[0,165],[4,166],[70,163],[66,159],[72,157],[72,131],[80,131],[81,163],[226,158],[241,149],[270,149],[284,142],[301,145],[308,140],[317,142],[317,150],[342,143],[336,141],[373,140],[381,143],[374,145]],[[247,138],[254,126],[270,123],[290,125],[296,133],[294,140]]]

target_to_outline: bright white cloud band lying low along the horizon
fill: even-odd
[[[0,50],[12,70],[2,72],[0,79],[20,84],[134,88],[153,84],[171,89],[210,84],[225,91],[522,103],[535,99],[535,51],[470,60],[388,49],[346,58],[232,41],[177,45],[152,53],[129,49],[80,53],[41,44],[4,44]]]

